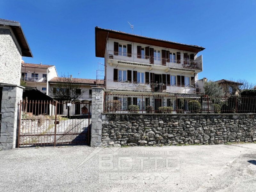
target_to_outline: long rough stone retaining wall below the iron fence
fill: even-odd
[[[102,146],[256,141],[256,114],[105,114]]]

